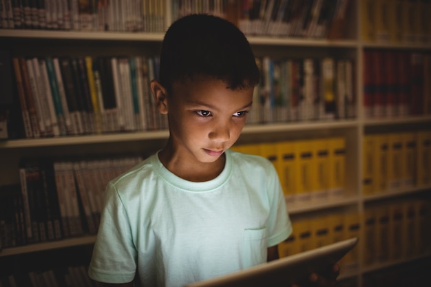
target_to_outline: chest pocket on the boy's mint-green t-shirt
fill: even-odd
[[[243,268],[266,262],[268,234],[266,227],[244,229]]]

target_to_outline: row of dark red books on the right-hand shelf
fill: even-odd
[[[364,50],[366,118],[431,114],[431,56],[425,52]]]

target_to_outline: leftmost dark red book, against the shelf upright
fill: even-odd
[[[372,74],[372,51],[364,50],[364,116],[365,118],[372,118],[372,106],[374,103],[374,76]]]

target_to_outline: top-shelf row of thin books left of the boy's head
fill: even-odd
[[[0,8],[0,28],[165,31],[165,0],[1,0]]]

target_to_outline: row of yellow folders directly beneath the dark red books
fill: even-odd
[[[368,134],[363,151],[365,195],[431,184],[431,130]]]

